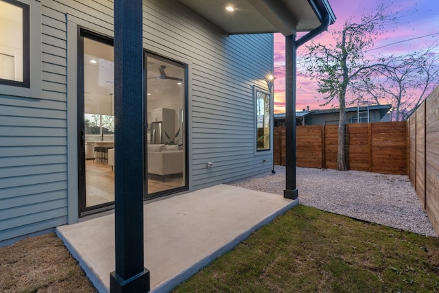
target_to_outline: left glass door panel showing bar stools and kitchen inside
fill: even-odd
[[[84,213],[115,200],[114,55],[112,40],[84,30],[79,47],[79,202]]]

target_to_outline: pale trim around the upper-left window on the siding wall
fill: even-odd
[[[30,86],[0,84],[0,95],[41,98],[41,3],[35,0],[17,0],[29,5],[29,75]]]

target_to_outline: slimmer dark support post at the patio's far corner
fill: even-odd
[[[285,177],[283,197],[295,200],[296,188],[296,36],[285,37]]]

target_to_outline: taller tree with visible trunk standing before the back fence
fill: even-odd
[[[385,67],[381,62],[366,58],[365,52],[373,47],[374,40],[383,32],[386,24],[394,21],[396,16],[385,12],[383,5],[361,18],[359,23],[349,19],[342,30],[332,33],[334,45],[320,43],[307,46],[305,61],[306,75],[318,83],[318,92],[324,94],[327,106],[334,99],[338,100],[340,119],[338,122],[337,169],[346,170],[345,120],[346,95],[354,97],[353,84],[364,77],[373,67]],[[376,59],[375,59],[376,60]],[[353,101],[351,101],[353,102]]]

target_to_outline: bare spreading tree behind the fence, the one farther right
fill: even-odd
[[[391,104],[392,121],[407,120],[439,84],[437,44],[404,56],[381,58],[387,67],[372,69],[360,84],[376,104]]]

